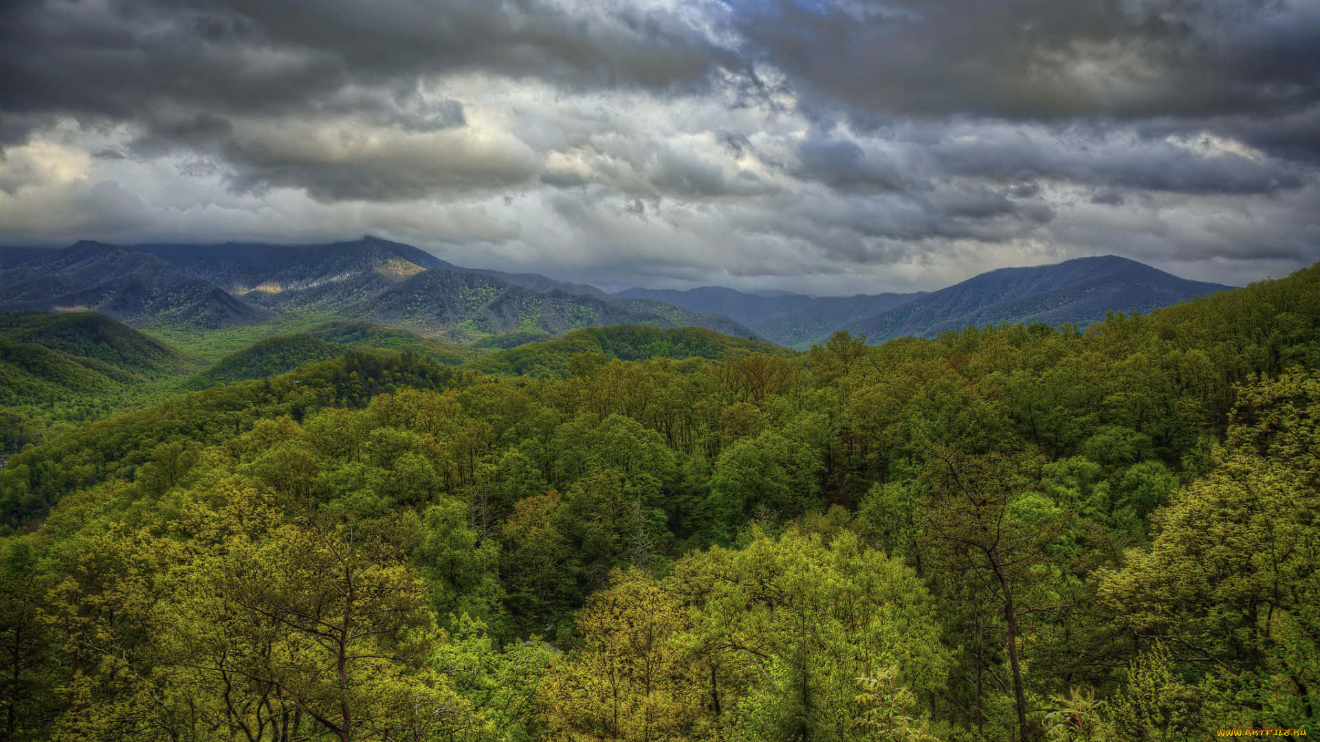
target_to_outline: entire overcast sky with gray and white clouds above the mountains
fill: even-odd
[[[1317,0],[5,0],[0,244],[817,294],[1320,260]]]

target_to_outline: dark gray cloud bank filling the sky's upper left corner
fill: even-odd
[[[414,95],[425,75],[483,70],[573,87],[671,87],[734,61],[672,12],[566,8],[548,0],[15,0],[0,11],[0,108],[150,121],[195,108],[222,116],[348,110],[425,128],[434,111]],[[438,114],[453,118],[449,108]]]

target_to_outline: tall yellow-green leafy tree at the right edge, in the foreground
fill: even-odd
[[[1195,647],[1188,659],[1213,672],[1205,702],[1245,704],[1230,716],[1246,725],[1304,726],[1320,700],[1317,452],[1320,372],[1245,388],[1216,467],[1159,511],[1151,551],[1131,553],[1101,585],[1138,635]],[[1173,702],[1156,701],[1173,683],[1171,661],[1156,647],[1135,665],[1138,677],[1163,673],[1140,706]]]

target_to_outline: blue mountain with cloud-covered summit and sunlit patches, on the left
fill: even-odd
[[[267,322],[285,334],[356,321],[454,342],[607,325],[751,334],[726,317],[612,300],[545,276],[459,268],[375,238],[322,246],[79,243],[5,269],[3,284],[5,309],[92,309],[139,327],[174,330]]]

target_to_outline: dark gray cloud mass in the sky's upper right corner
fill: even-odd
[[[891,115],[1278,115],[1320,100],[1307,1],[774,0],[738,21],[795,81]]]

